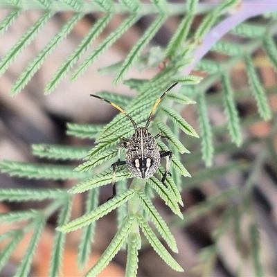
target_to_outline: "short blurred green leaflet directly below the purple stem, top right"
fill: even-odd
[[[266,27],[262,24],[254,24],[253,22],[242,22],[235,26],[231,33],[240,35],[241,37],[262,37],[265,34]]]

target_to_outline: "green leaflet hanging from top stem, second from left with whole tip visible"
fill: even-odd
[[[98,19],[96,23],[93,25],[89,33],[82,39],[82,42],[79,46],[69,55],[69,57],[63,62],[63,64],[57,69],[51,80],[46,84],[45,92],[51,93],[57,84],[61,82],[61,80],[66,76],[67,73],[73,68],[75,63],[80,59],[80,57],[84,54],[85,51],[93,44],[96,37],[102,33],[102,30],[105,29],[107,24],[111,21],[113,17],[112,14],[107,14],[104,17]]]

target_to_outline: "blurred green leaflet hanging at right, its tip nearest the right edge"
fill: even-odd
[[[258,74],[256,73],[256,70],[250,55],[245,55],[245,65],[247,66],[247,75],[249,78],[249,84],[251,87],[251,91],[253,92],[253,96],[256,99],[260,116],[262,116],[262,118],[265,120],[269,120],[272,117],[271,109],[267,103],[265,89],[264,87],[262,87],[262,84],[260,84]]]

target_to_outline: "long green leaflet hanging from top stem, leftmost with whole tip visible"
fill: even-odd
[[[12,95],[15,95],[16,93],[24,89],[33,75],[39,70],[42,64],[44,64],[46,58],[55,50],[55,48],[57,48],[62,39],[64,39],[71,32],[71,30],[75,27],[75,25],[78,23],[78,21],[80,21],[82,17],[83,15],[80,13],[73,15],[71,19],[69,19],[69,21],[64,24],[62,29],[53,37],[53,39],[48,42],[48,44],[42,49],[42,51],[37,54],[35,59],[30,62],[30,64],[26,67],[26,69],[21,73],[21,75],[15,82],[11,90]]]

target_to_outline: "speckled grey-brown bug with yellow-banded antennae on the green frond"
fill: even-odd
[[[161,95],[161,97],[154,103],[148,120],[146,121],[145,127],[138,127],[134,122],[133,118],[129,116],[129,114],[127,114],[127,112],[124,109],[116,105],[114,102],[111,102],[100,96],[90,94],[90,96],[96,97],[100,100],[109,103],[111,106],[118,109],[118,111],[125,114],[125,116],[131,121],[132,125],[134,126],[135,132],[129,139],[126,139],[123,136],[120,137],[120,148],[126,148],[126,160],[120,161],[120,159],[118,159],[118,161],[111,165],[113,168],[114,175],[117,166],[122,166],[126,164],[129,171],[132,172],[132,174],[134,174],[136,178],[148,179],[157,171],[161,158],[168,156],[169,158],[168,162],[166,163],[166,171],[164,172],[163,178],[161,179],[161,182],[165,185],[166,175],[170,174],[170,172],[168,172],[168,169],[172,160],[172,152],[159,150],[159,146],[156,142],[156,139],[158,139],[160,136],[163,137],[163,134],[159,133],[156,136],[152,136],[152,134],[148,132],[148,127],[150,125],[154,111],[157,109],[159,105],[159,102],[161,102],[162,98],[166,96],[166,93],[168,93],[168,91],[170,91],[170,89],[175,87],[177,84],[177,82],[175,82],[175,84],[172,84],[172,86],[169,89],[167,89]],[[112,197],[114,197],[115,195],[116,184],[115,180],[113,180]]]

